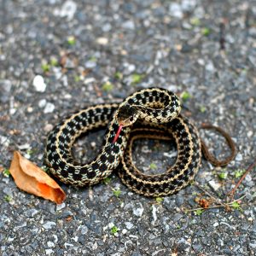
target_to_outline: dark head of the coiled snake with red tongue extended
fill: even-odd
[[[113,138],[113,143],[117,141],[119,138],[119,134],[123,127],[132,125],[135,123],[139,116],[139,111],[137,106],[131,106],[129,104],[126,104],[124,106],[121,106],[118,110],[117,114],[117,121],[119,124],[119,129],[115,134],[115,137]]]

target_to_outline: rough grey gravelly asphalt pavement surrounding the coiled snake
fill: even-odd
[[[9,168],[18,149],[44,166],[47,134],[60,119],[159,86],[183,98],[196,125],[220,125],[236,142],[229,166],[203,160],[195,177],[224,199],[256,156],[255,20],[254,1],[0,0],[0,164]],[[81,138],[75,156],[95,156],[103,133]],[[218,157],[228,154],[223,138],[201,136]],[[143,172],[164,172],[175,146],[138,141],[134,158]],[[2,172],[0,254],[255,255],[255,181],[253,170],[231,211],[188,212],[204,194],[195,184],[155,201],[113,174],[91,188],[61,184],[67,200],[56,206]]]

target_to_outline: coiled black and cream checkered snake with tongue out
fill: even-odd
[[[235,154],[230,139],[230,158],[222,162],[213,159],[201,143],[198,129],[180,112],[181,102],[177,95],[156,87],[137,90],[120,103],[89,106],[61,120],[49,132],[45,162],[51,174],[62,183],[90,186],[117,170],[121,181],[137,194],[148,197],[172,195],[194,180],[201,166],[201,152],[219,166],[226,165]],[[106,129],[99,154],[88,163],[75,160],[73,143],[81,134],[99,128]],[[177,158],[166,172],[148,175],[135,166],[132,145],[143,137],[175,141]]]

